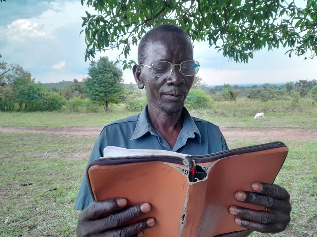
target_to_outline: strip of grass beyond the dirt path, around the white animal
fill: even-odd
[[[0,126],[26,127],[72,127],[103,126],[108,123],[131,116],[140,111],[129,112],[124,106],[115,106],[109,113],[63,112],[0,112]],[[254,115],[264,112],[265,119],[255,121]],[[299,105],[292,109],[290,100],[238,99],[237,101],[215,101],[213,109],[192,111],[192,116],[206,119],[219,126],[232,128],[315,128],[317,127],[317,103],[301,99]]]

